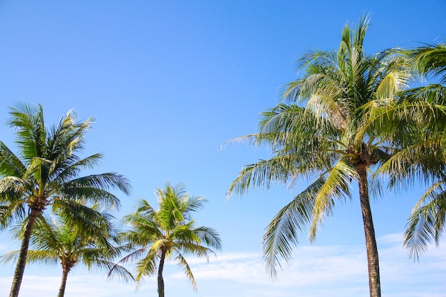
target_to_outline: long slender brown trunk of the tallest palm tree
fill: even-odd
[[[367,249],[368,287],[370,289],[370,297],[380,297],[380,267],[370,199],[368,197],[367,164],[364,162],[356,165],[356,172],[359,175],[359,199],[361,201],[361,211],[363,212],[365,249]]]

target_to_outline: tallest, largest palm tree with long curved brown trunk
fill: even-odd
[[[370,172],[388,160],[395,150],[390,144],[395,142],[383,139],[365,124],[375,110],[395,101],[410,71],[394,49],[371,56],[365,53],[368,23],[368,16],[363,16],[354,30],[346,25],[338,51],[311,51],[299,59],[303,76],[284,88],[289,104],[263,113],[259,132],[237,139],[269,145],[274,157],[244,167],[227,197],[243,194],[249,187],[268,188],[274,182],[292,185],[299,177],[313,179],[266,227],[264,260],[275,278],[279,257],[291,259],[299,231],[309,226],[309,239],[316,239],[323,218],[333,213],[336,202],[351,199],[350,187],[356,182],[370,296],[380,297],[378,248],[370,210],[370,194],[379,194],[380,183],[371,179]]]

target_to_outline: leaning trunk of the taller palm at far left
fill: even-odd
[[[17,261],[16,271],[14,272],[14,278],[12,280],[11,293],[9,297],[19,297],[21,280],[24,277],[26,256],[28,255],[29,240],[31,239],[31,233],[34,225],[36,224],[37,217],[42,213],[41,210],[31,209],[31,213],[28,216],[28,223],[24,232],[24,239],[21,241],[19,260]]]

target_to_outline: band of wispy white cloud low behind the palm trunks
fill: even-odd
[[[388,297],[446,297],[446,249],[432,246],[419,263],[410,260],[401,246],[401,234],[378,239],[381,286]],[[189,259],[199,286],[195,293],[174,264],[165,268],[165,286],[170,296],[195,297],[358,297],[368,296],[368,276],[363,246],[301,246],[284,263],[279,278],[271,281],[259,253],[222,253],[209,259]],[[21,297],[56,295],[60,276],[26,275]],[[7,296],[11,278],[0,278],[0,295]],[[147,278],[138,291],[134,284],[107,281],[104,277],[73,271],[66,297],[152,296],[156,278]],[[130,295],[131,294],[131,295]]]

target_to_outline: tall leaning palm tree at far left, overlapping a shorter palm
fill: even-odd
[[[96,212],[88,204],[119,207],[118,197],[108,189],[129,194],[130,184],[114,172],[78,176],[81,170],[92,169],[102,157],[77,155],[83,150],[92,118],[77,122],[76,113],[70,110],[58,125],[47,129],[41,105],[19,103],[10,108],[10,115],[9,125],[16,129],[19,155],[0,142],[0,224],[6,228],[26,220],[10,293],[10,297],[17,297],[33,227],[44,210],[51,208],[68,222],[80,217],[94,220]]]

